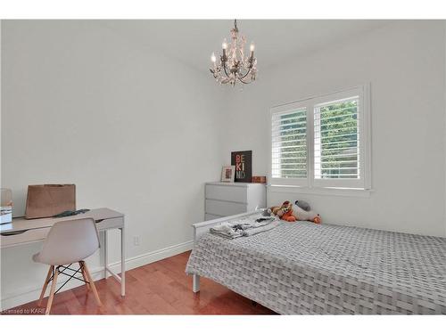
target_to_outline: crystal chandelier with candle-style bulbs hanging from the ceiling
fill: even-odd
[[[212,75],[220,84],[230,84],[240,81],[243,84],[250,84],[255,80],[257,74],[257,59],[254,58],[254,44],[251,43],[249,56],[244,56],[244,44],[246,38],[238,34],[237,20],[234,20],[234,29],[231,29],[232,41],[227,45],[227,40],[221,45],[223,54],[217,63],[215,53],[211,55],[213,63],[211,70]]]

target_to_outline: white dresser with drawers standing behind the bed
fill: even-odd
[[[241,214],[267,205],[267,189],[262,183],[206,183],[204,220]]]

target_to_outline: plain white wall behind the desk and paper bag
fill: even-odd
[[[28,184],[76,183],[78,208],[126,214],[128,258],[153,259],[191,247],[203,183],[223,164],[223,97],[210,77],[132,40],[95,21],[2,22],[2,187],[21,216]],[[38,297],[40,247],[2,250],[4,308]]]

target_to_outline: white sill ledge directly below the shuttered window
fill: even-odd
[[[370,197],[373,192],[371,189],[358,188],[309,188],[296,185],[280,185],[268,184],[268,191],[271,192],[288,192],[288,193],[304,193],[309,195],[325,195],[325,196],[346,196],[346,197]]]

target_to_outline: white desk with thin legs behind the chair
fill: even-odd
[[[85,214],[79,214],[77,216],[67,216],[62,218],[40,218],[40,219],[25,219],[14,218],[11,224],[0,225],[0,247],[15,247],[19,245],[28,244],[40,240],[45,240],[46,234],[51,229],[51,226],[56,222],[63,220],[89,218],[95,219],[97,230],[103,232],[103,270],[104,277],[108,276],[108,273],[118,281],[120,281],[120,295],[124,297],[126,295],[126,244],[125,244],[125,224],[124,215],[120,212],[113,211],[110,208],[95,208],[86,212]],[[120,276],[113,273],[108,267],[108,250],[107,250],[107,231],[111,229],[120,230]]]

